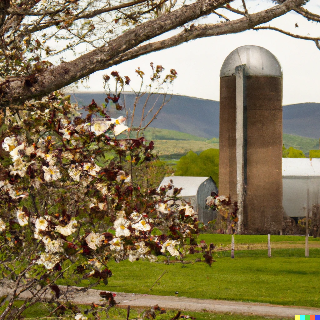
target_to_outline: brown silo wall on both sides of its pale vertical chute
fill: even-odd
[[[282,78],[246,76],[244,233],[282,230]],[[236,194],[236,76],[220,78],[219,193]]]

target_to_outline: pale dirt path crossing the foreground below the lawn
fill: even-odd
[[[91,304],[101,302],[100,290],[89,289],[79,292],[79,287],[61,286],[63,301],[78,304]],[[3,290],[3,288],[2,288]],[[2,291],[0,289],[0,292]],[[29,293],[21,295],[20,299],[28,298]],[[207,311],[216,313],[239,313],[243,315],[294,317],[295,315],[320,315],[320,309],[309,307],[278,306],[267,303],[250,303],[226,300],[194,299],[186,297],[156,296],[149,294],[116,293],[116,301],[120,306],[152,307],[158,304],[160,308],[183,310],[183,311]]]

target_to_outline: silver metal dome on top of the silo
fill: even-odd
[[[224,60],[220,77],[233,76],[235,68],[245,64],[246,76],[282,77],[280,62],[267,49],[257,45],[244,45],[233,50]]]

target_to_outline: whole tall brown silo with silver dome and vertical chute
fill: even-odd
[[[232,51],[220,71],[219,194],[239,206],[239,232],[282,231],[282,71],[267,49]]]

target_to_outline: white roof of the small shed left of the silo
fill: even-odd
[[[195,196],[201,183],[203,183],[207,179],[208,177],[164,177],[159,187],[168,185],[170,183],[170,180],[172,180],[174,187],[183,188],[181,190],[180,196]]]

